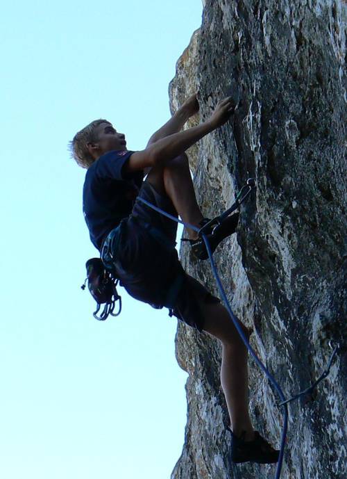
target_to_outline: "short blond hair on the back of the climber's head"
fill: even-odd
[[[90,124],[87,124],[87,127],[78,131],[74,136],[73,140],[69,142],[69,150],[71,156],[76,160],[77,164],[82,168],[89,168],[95,159],[90,154],[89,149],[87,148],[87,143],[95,142],[98,140],[96,136],[96,127],[101,123],[110,123],[108,120],[94,120]]]

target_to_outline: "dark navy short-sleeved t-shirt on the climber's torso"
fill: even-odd
[[[112,151],[88,168],[83,185],[83,214],[93,245],[100,250],[105,236],[129,216],[144,172],[122,173],[133,152]]]

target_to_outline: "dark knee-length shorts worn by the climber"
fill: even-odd
[[[139,196],[177,217],[171,200],[144,181]],[[138,199],[128,218],[105,238],[102,259],[135,299],[169,308],[189,326],[203,330],[201,302],[220,302],[183,270],[175,249],[177,222]]]

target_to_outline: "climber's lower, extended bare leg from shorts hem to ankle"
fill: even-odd
[[[235,435],[246,432],[245,439],[254,438],[248,412],[247,349],[230,320],[228,311],[220,303],[200,303],[204,316],[204,330],[217,337],[223,346],[221,362],[221,387],[230,416],[230,427]],[[250,332],[244,327],[244,332]]]

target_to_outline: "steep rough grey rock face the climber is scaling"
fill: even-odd
[[[289,406],[282,479],[345,478],[346,462],[346,5],[328,0],[206,0],[201,29],[177,63],[171,111],[198,90],[207,119],[232,95],[239,108],[188,152],[205,216],[232,204],[248,177],[237,235],[214,254],[235,314],[286,397],[314,382],[310,400]],[[219,294],[210,265],[182,243],[189,274]],[[272,478],[274,466],[230,463],[221,346],[179,323],[178,364],[189,373],[185,444],[171,479]],[[255,428],[279,446],[279,398],[253,359]]]

